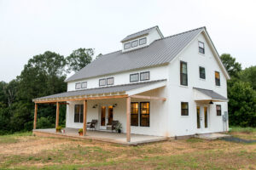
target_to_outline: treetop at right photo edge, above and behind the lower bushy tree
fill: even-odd
[[[239,78],[243,82],[249,82],[253,89],[256,90],[256,66],[251,66],[241,71]]]

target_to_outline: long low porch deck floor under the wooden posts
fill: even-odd
[[[142,134],[131,134],[131,142],[126,142],[126,133],[111,133],[105,131],[87,130],[85,136],[79,136],[79,129],[64,128],[65,133],[56,133],[55,128],[34,129],[33,134],[37,136],[71,138],[71,139],[92,139],[115,144],[137,145],[158,141],[165,141],[168,138],[160,136],[150,136]]]

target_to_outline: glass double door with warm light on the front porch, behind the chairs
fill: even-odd
[[[101,129],[107,129],[107,125],[113,122],[113,105],[102,105],[100,116]]]

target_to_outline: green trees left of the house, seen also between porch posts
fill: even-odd
[[[0,134],[30,131],[33,124],[32,99],[67,91],[67,73],[88,65],[94,49],[79,48],[66,58],[46,51],[29,59],[20,76],[0,82]],[[38,128],[55,127],[55,105],[38,105]],[[60,125],[65,125],[66,105],[60,107]]]

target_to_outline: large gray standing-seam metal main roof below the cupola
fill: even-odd
[[[204,29],[205,27],[201,27],[171,37],[165,37],[152,42],[145,48],[125,53],[120,50],[102,55],[72,77],[67,78],[66,82],[167,64]]]

